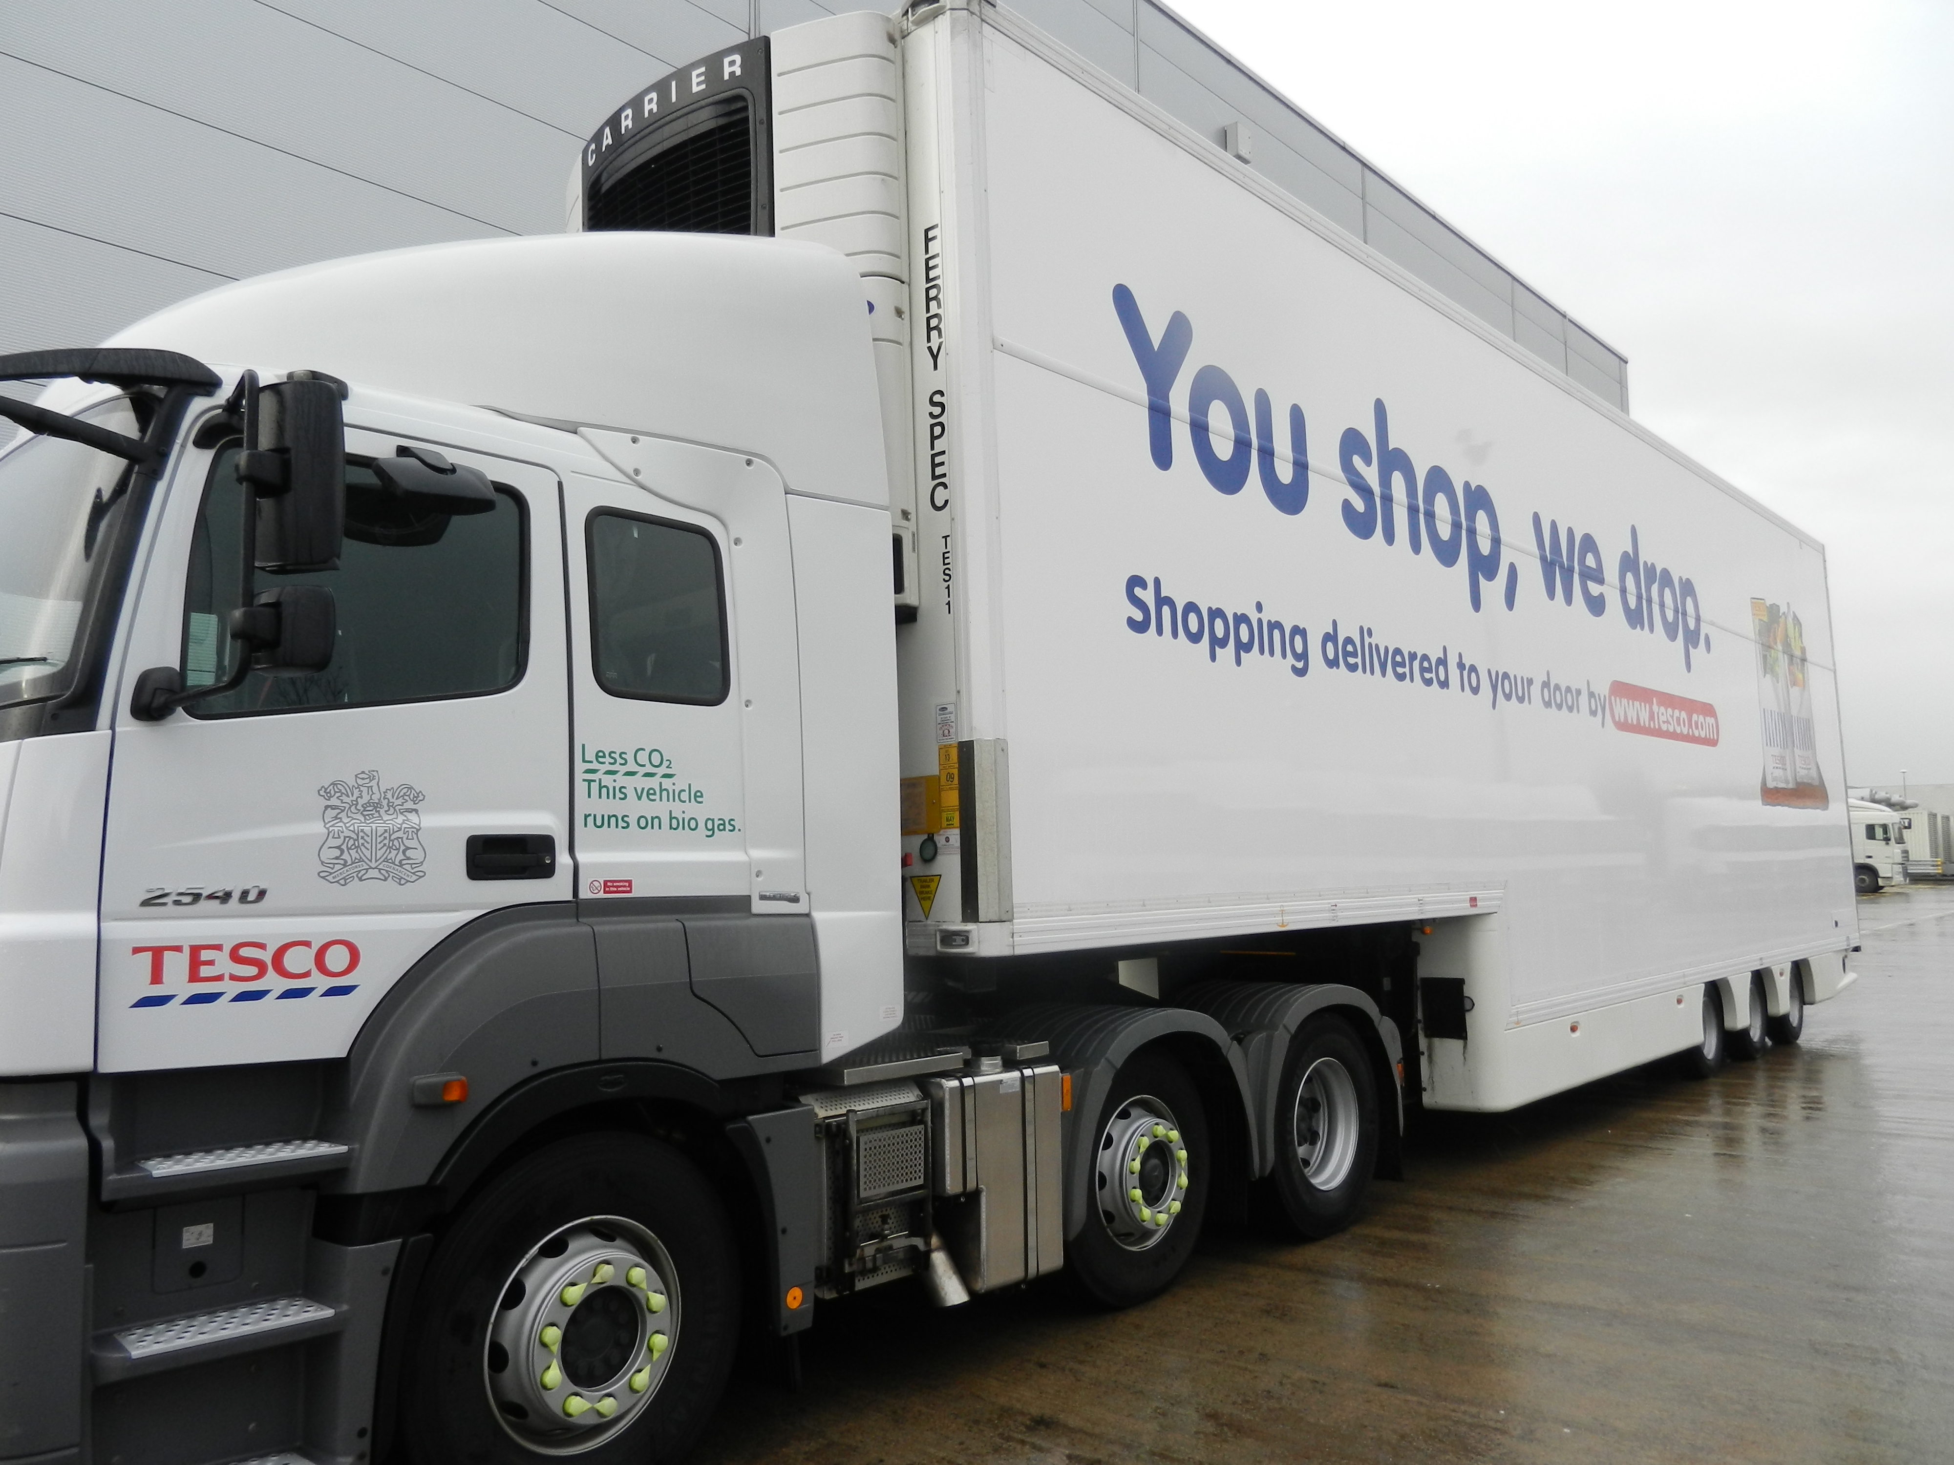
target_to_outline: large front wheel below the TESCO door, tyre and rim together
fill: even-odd
[[[711,1418],[739,1340],[719,1197],[643,1135],[559,1141],[459,1213],[408,1324],[418,1465],[647,1465]]]

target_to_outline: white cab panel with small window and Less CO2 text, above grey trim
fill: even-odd
[[[571,475],[578,895],[807,914],[786,488],[768,465],[586,430]]]

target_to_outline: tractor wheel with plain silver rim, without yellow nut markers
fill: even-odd
[[[1276,1125],[1284,1215],[1311,1240],[1335,1236],[1356,1219],[1378,1166],[1378,1082],[1342,1018],[1315,1018],[1290,1043]]]

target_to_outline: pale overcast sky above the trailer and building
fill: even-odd
[[[1168,2],[1815,533],[1848,779],[1954,783],[1954,4]]]

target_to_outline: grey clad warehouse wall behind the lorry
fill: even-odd
[[[555,232],[574,150],[617,98],[746,35],[858,8],[0,6],[0,352],[92,344],[229,279],[313,260]],[[1628,410],[1618,352],[1172,12],[1153,0],[1014,8],[1217,146],[1229,123],[1247,123],[1249,166]]]

